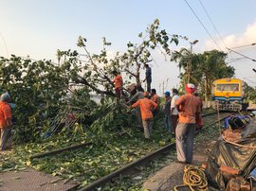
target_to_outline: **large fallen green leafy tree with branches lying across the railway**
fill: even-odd
[[[83,116],[84,126],[93,123],[93,130],[97,132],[114,128],[119,130],[132,124],[126,109],[114,106],[109,112],[109,104],[105,104],[103,98],[103,104],[98,109],[89,95],[96,93],[106,100],[113,100],[116,96],[112,81],[113,70],[122,70],[131,81],[140,83],[143,64],[154,60],[152,50],[158,48],[166,55],[171,55],[171,44],[177,44],[178,39],[186,40],[186,37],[170,35],[161,29],[157,19],[147,27],[145,34],[140,33],[138,37],[140,43],[127,43],[127,51],[117,52],[111,59],[106,48],[111,43],[105,38],[101,53],[92,54],[87,49],[86,39],[81,36],[77,45],[83,49],[84,54],[58,50],[58,63],[33,61],[28,57],[14,55],[10,59],[1,57],[0,92],[9,91],[14,98],[13,102],[17,104],[14,110],[15,141],[40,139],[40,130],[49,130],[52,119],[64,111],[66,105],[68,108],[79,107],[86,111]],[[68,98],[70,95],[71,99]]]

